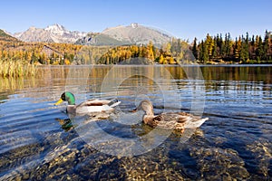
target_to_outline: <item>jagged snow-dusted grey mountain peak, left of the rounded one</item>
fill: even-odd
[[[53,24],[44,29],[30,27],[23,33],[15,33],[14,36],[24,42],[75,43],[86,34],[78,31],[68,31],[63,25]]]

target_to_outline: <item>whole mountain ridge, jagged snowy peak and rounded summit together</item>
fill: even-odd
[[[102,33],[69,31],[61,24],[45,28],[29,27],[13,36],[23,42],[75,43],[91,45],[147,44],[160,46],[170,41],[171,36],[150,27],[133,23],[106,28]]]

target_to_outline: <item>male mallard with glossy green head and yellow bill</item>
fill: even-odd
[[[86,100],[79,105],[75,105],[73,93],[69,91],[63,92],[61,99],[54,105],[58,105],[63,101],[68,101],[67,112],[70,114],[94,114],[99,112],[112,112],[114,107],[119,105],[118,100]]]

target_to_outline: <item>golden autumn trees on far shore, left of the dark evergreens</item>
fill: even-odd
[[[184,51],[187,49],[188,51]],[[0,40],[0,60],[32,64],[117,64],[141,57],[149,63],[176,64],[189,52],[189,44],[180,39],[156,47],[148,44],[93,46],[73,43],[24,43]],[[189,59],[189,56],[188,58]]]

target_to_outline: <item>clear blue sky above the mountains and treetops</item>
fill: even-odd
[[[207,33],[263,35],[272,31],[271,7],[271,0],[5,0],[0,29],[15,33],[62,24],[68,30],[102,32],[136,22],[191,42]]]

